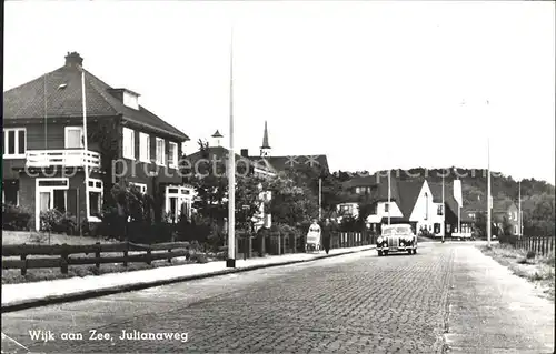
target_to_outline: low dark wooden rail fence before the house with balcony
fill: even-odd
[[[135,254],[129,254],[129,252]],[[122,256],[113,256],[113,253],[122,253]],[[81,256],[72,256],[76,254]],[[89,254],[93,256],[88,256]],[[28,257],[29,255],[48,255],[50,257]],[[90,245],[14,244],[2,246],[2,270],[19,269],[21,275],[26,275],[28,269],[60,267],[61,273],[67,274],[69,265],[95,264],[99,269],[102,263],[122,263],[123,266],[128,266],[129,263],[151,264],[152,261],[157,260],[168,260],[171,263],[172,259],[180,256],[189,257],[188,242],[150,245],[131,242],[107,244],[97,242]],[[4,257],[19,257],[19,260],[4,260]]]

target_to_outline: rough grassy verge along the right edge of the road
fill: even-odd
[[[495,244],[490,249],[479,246],[484,254],[507,266],[514,274],[528,280],[543,290],[547,299],[555,300],[555,257],[516,250],[508,244]]]

